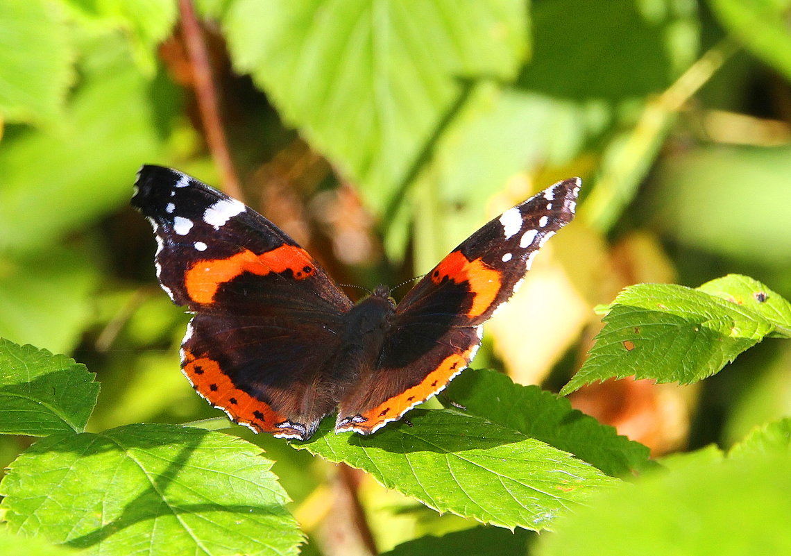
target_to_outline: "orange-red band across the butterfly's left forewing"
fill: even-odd
[[[261,255],[245,249],[227,259],[198,261],[184,274],[184,282],[192,301],[209,304],[222,284],[245,272],[266,276],[286,270],[291,270],[297,280],[304,280],[316,274],[316,265],[305,249],[293,245],[281,245]]]

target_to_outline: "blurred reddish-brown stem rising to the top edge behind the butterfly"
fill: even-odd
[[[195,7],[191,0],[179,0],[181,13],[181,31],[184,33],[184,43],[187,47],[187,58],[194,74],[195,97],[198,100],[198,110],[206,133],[206,145],[209,147],[214,162],[218,165],[223,188],[225,192],[237,199],[244,200],[242,189],[233,166],[228,142],[225,139],[225,130],[220,117],[217,89],[214,86],[209,52],[206,50],[206,41],[195,16]]]

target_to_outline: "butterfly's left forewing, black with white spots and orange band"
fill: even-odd
[[[135,187],[132,206],[157,237],[157,278],[176,304],[248,312],[255,290],[240,283],[247,275],[271,293],[267,302],[274,297],[274,304],[319,311],[351,307],[308,252],[237,199],[161,166],[143,166]],[[218,296],[223,303],[215,302]]]

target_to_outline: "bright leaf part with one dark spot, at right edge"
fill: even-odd
[[[774,324],[773,335],[791,337],[791,304],[758,280],[728,274],[706,282],[698,290],[755,311]]]

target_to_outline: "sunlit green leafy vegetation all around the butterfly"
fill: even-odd
[[[294,554],[303,534],[305,554],[791,553],[791,347],[755,345],[791,322],[789,7],[0,0],[0,553]],[[223,187],[338,282],[367,288],[426,272],[487,218],[581,176],[577,220],[475,360],[544,391],[467,371],[450,391],[467,414],[416,410],[414,430],[383,430],[369,452],[347,437],[297,451],[241,427],[173,426],[218,411],[179,372],[188,317],[156,286],[153,236],[128,206],[143,163]],[[602,330],[597,305],[632,284],[729,273],[760,282],[623,292],[569,383]],[[700,342],[692,305],[710,332]],[[638,342],[646,358],[624,360],[652,324],[662,333],[647,354]],[[14,344],[87,365],[98,398],[85,368]],[[570,401],[653,456],[675,452],[660,463],[547,392],[634,374],[654,380],[608,380]],[[25,396],[57,415],[9,418]],[[490,452],[393,448],[460,419]],[[511,440],[484,445],[494,429]],[[145,479],[124,475],[131,460]],[[438,471],[464,462],[470,482]],[[660,464],[670,471],[649,471]],[[115,473],[111,494],[91,486],[97,469]],[[536,495],[559,469],[579,488]],[[530,488],[483,491],[471,507],[471,484],[505,479]],[[264,501],[271,513],[239,517]],[[178,524],[157,532],[168,516]],[[92,520],[101,527],[75,532]],[[526,531],[543,528],[557,533],[537,543]]]

